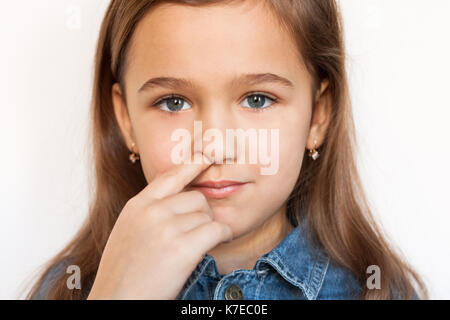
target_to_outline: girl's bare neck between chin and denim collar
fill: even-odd
[[[216,260],[221,275],[237,269],[252,270],[256,261],[275,248],[293,228],[286,218],[284,205],[259,227],[229,243],[219,244],[208,254]]]

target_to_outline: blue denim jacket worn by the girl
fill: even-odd
[[[361,286],[355,277],[307,241],[305,225],[260,257],[253,270],[219,274],[215,259],[206,254],[176,299],[224,300],[232,284],[241,288],[244,300],[359,298]]]

